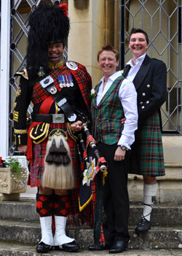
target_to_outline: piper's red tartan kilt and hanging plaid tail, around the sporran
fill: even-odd
[[[84,212],[79,212],[79,184],[82,177],[82,170],[78,160],[78,152],[76,147],[76,141],[71,139],[68,134],[66,123],[52,123],[50,124],[50,131],[55,128],[63,129],[68,136],[68,145],[71,151],[71,159],[74,168],[74,189],[68,190],[69,207],[67,223],[70,227],[82,225],[83,222],[87,222],[87,225],[92,226],[92,205],[87,207]],[[49,131],[49,132],[50,132]],[[47,139],[40,144],[33,144],[33,164],[30,166],[30,175],[28,179],[28,185],[31,187],[39,187],[41,185],[41,179],[44,173],[44,157],[46,155]]]

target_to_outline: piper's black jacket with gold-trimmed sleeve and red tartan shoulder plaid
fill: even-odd
[[[52,101],[47,101],[47,98],[52,96],[41,86],[41,79],[47,76],[52,77],[53,84],[63,93],[73,109],[81,110],[86,115],[90,114],[88,96],[92,88],[92,80],[82,64],[76,63],[76,65],[77,69],[68,68],[66,65],[54,66],[54,69],[50,69],[50,73],[41,78],[31,74],[31,71],[28,71],[28,73],[27,71],[19,72],[21,75],[20,85],[17,90],[13,112],[16,146],[27,144],[27,109],[31,102],[33,103],[34,114],[58,114],[60,111],[53,98]],[[61,79],[68,79],[68,81],[61,81]],[[74,86],[61,88],[60,82],[73,82]],[[47,102],[50,104],[49,107],[47,107]]]

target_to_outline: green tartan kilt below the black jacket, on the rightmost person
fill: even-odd
[[[135,133],[130,174],[158,177],[165,175],[159,113],[154,112]]]

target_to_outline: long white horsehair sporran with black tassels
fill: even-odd
[[[65,131],[61,129],[50,132],[44,160],[43,187],[59,190],[74,188],[74,170],[67,139]]]

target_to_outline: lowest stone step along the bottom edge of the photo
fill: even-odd
[[[106,256],[108,251],[90,252],[85,249],[79,249],[79,252],[60,252],[50,251],[46,254],[39,254],[36,252],[35,246],[28,246],[22,244],[7,244],[0,242],[0,256]],[[181,249],[127,249],[127,251],[119,253],[122,256],[181,256]]]

